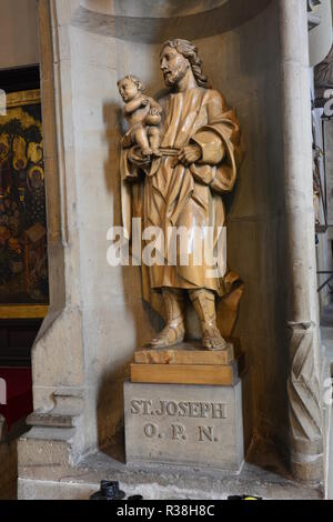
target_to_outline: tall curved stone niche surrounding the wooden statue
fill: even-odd
[[[251,368],[243,387],[245,449],[258,440],[284,448],[278,4],[39,0],[51,309],[33,348],[34,413],[19,443],[21,498],[65,496],[63,480],[61,492],[51,482],[121,433],[133,350],[162,324],[142,301],[140,269],[107,263],[107,232],[121,224],[117,80],[138,74],[155,96],[163,88],[159,52],[170,38],[198,44],[204,72],[241,121],[246,155],[228,199],[228,255],[245,284],[234,332]]]

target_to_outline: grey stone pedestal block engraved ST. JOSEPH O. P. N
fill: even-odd
[[[243,464],[242,384],[124,383],[128,463],[239,472]]]

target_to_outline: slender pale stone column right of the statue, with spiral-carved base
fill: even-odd
[[[323,478],[316,324],[312,138],[305,0],[280,0],[285,185],[285,285],[291,468],[295,479]]]

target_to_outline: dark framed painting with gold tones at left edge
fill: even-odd
[[[49,282],[40,90],[6,98],[0,116],[0,319],[43,317]]]

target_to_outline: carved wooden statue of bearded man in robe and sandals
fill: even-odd
[[[143,295],[159,309],[162,297],[165,327],[150,342],[164,348],[183,341],[188,293],[208,350],[226,347],[216,327],[215,297],[228,292],[228,274],[211,277],[203,259],[193,262],[192,228],[214,230],[214,244],[225,224],[223,194],[233,189],[242,159],[241,135],[234,111],[226,109],[220,92],[208,87],[198,49],[186,40],[163,44],[160,67],[169,93],[163,108],[161,157],[143,158],[137,145],[123,142],[121,155],[123,224],[131,233],[131,219],[144,227],[185,227],[189,263],[142,267]],[[164,252],[167,258],[167,253]]]

